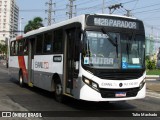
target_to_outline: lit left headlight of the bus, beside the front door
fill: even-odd
[[[92,89],[96,90],[99,92],[99,87],[98,87],[98,84],[86,77],[82,77],[82,80],[85,84],[87,84],[89,87],[91,87]]]

